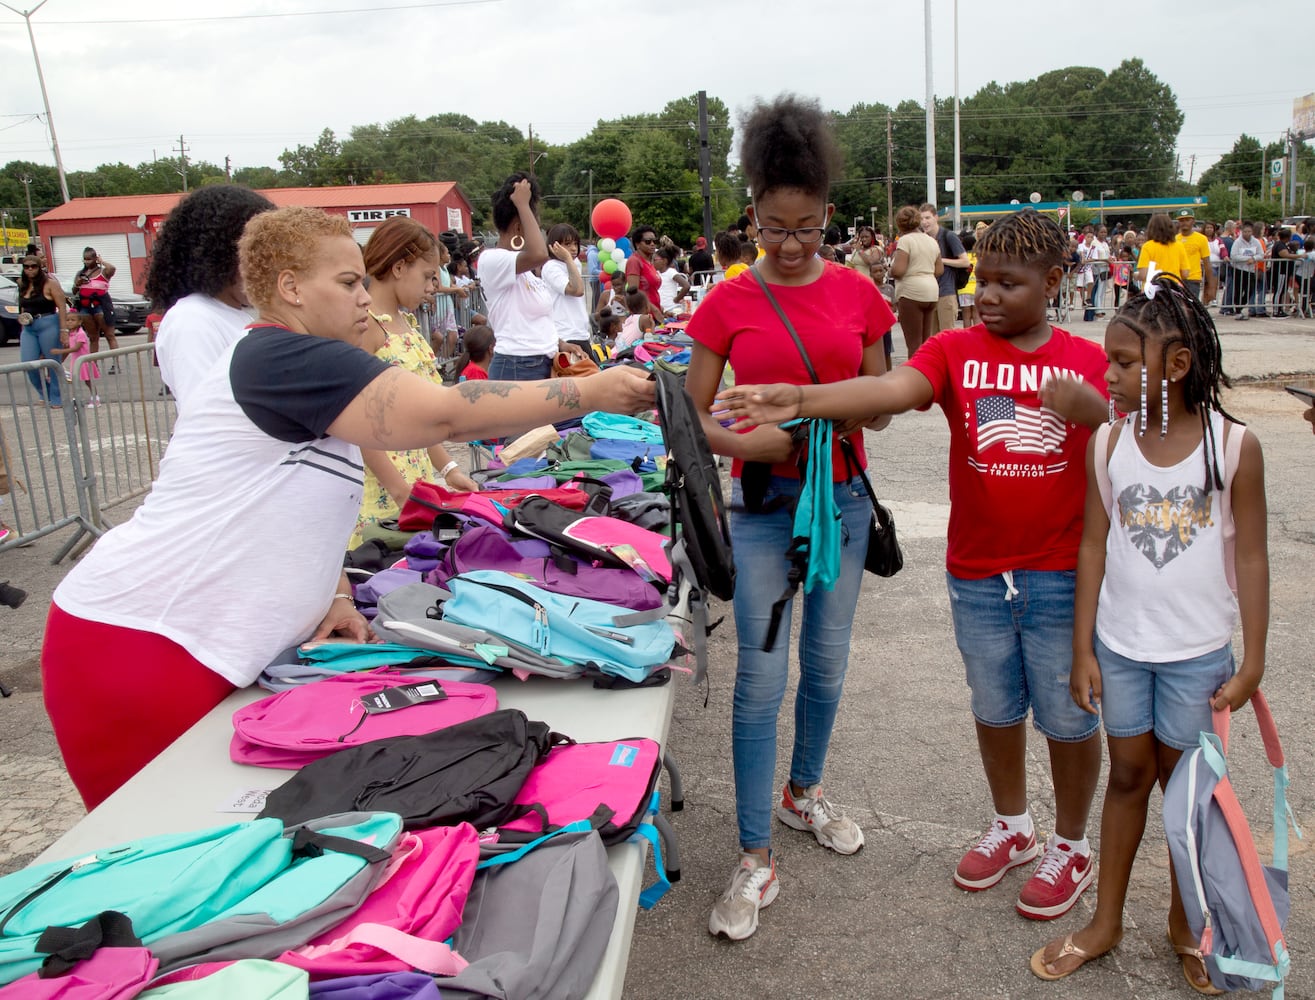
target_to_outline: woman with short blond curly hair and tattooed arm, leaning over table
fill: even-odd
[[[239,255],[259,321],[193,387],[146,501],[51,601],[42,691],[88,808],[280,651],[370,637],[342,572],[362,447],[402,451],[654,403],[652,383],[623,367],[448,388],[367,354],[371,297],[342,216],[262,213]]]

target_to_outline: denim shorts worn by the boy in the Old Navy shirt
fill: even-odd
[[[1073,668],[1072,570],[1014,570],[964,580],[945,574],[955,641],[964,658],[973,716],[985,726],[1032,725],[1048,739],[1080,742],[1101,726],[1069,695]]]

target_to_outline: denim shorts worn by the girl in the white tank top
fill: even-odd
[[[1101,721],[1105,734],[1155,738],[1177,750],[1197,746],[1201,732],[1214,732],[1210,699],[1233,675],[1232,645],[1172,663],[1143,663],[1120,657],[1099,638]]]

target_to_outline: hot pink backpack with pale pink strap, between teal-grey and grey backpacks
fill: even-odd
[[[460,926],[479,854],[479,834],[468,822],[405,834],[360,908],[279,962],[313,978],[412,968],[456,975],[466,961],[443,942]]]

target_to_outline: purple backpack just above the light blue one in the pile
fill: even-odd
[[[501,570],[554,593],[588,597],[631,611],[650,611],[663,603],[663,592],[631,570],[555,558],[547,542],[538,538],[513,539],[490,525],[471,528],[452,542],[426,583],[447,588],[454,576],[472,570]]]

